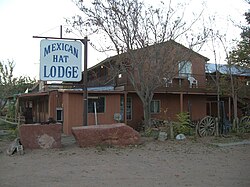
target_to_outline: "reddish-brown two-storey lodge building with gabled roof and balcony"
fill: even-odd
[[[174,41],[168,41],[166,45],[189,51],[191,55],[173,64],[175,76],[162,78],[164,84],[156,89],[151,102],[151,117],[176,120],[176,114],[181,112],[189,112],[191,120],[216,116],[216,89],[208,87],[214,73],[207,63],[209,59]],[[115,59],[107,58],[88,69],[88,125],[119,121],[138,130],[143,121],[143,105],[127,74],[110,76]],[[243,77],[249,79],[250,72]],[[26,123],[41,123],[52,117],[63,124],[63,133],[71,134],[72,127],[83,125],[82,84],[82,81],[59,85],[39,81],[31,92],[18,97]],[[246,98],[249,102],[249,97]],[[221,100],[231,119],[231,97],[221,96]]]

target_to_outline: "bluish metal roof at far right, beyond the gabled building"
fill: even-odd
[[[221,74],[230,74],[230,70],[231,70],[232,75],[250,77],[250,68],[246,68],[246,67],[242,67],[242,66],[235,66],[235,65],[229,66],[228,64],[207,63],[205,72],[206,73],[216,72],[216,65],[217,65],[218,71]]]

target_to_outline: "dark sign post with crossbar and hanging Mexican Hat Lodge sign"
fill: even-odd
[[[70,81],[82,80],[82,48],[84,44],[84,79],[83,79],[83,126],[88,125],[88,89],[87,89],[87,59],[88,38],[60,38],[33,36],[33,38],[44,38],[41,41],[40,53],[40,79],[48,81]],[[53,40],[47,40],[53,39]],[[64,41],[70,40],[70,41]],[[77,40],[81,41],[78,42]]]

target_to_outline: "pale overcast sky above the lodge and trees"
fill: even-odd
[[[151,0],[145,1],[151,3]],[[201,0],[191,0],[191,7],[193,10],[201,9]],[[228,20],[244,23],[243,14],[250,9],[244,0],[206,0],[205,7],[207,15],[216,17],[214,27],[226,33],[228,40],[239,38],[241,30]],[[41,39],[33,36],[59,37],[60,25],[63,30],[69,27],[64,18],[78,13],[80,11],[71,0],[0,0],[0,61],[14,61],[15,76],[30,76],[38,80]],[[65,32],[63,37],[81,38]],[[91,36],[89,39],[95,41]],[[209,46],[200,53],[213,58]],[[89,46],[88,57],[88,67],[91,67],[108,56]]]

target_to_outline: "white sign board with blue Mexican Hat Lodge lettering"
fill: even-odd
[[[78,41],[42,40],[40,80],[73,81],[82,79],[82,44]]]

